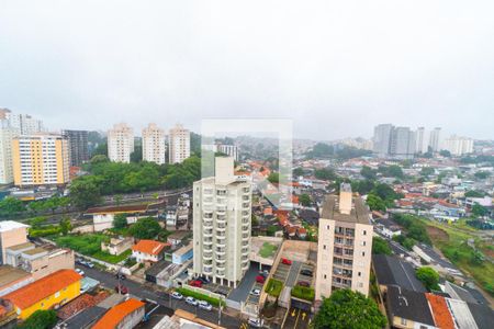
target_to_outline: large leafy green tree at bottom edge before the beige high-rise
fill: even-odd
[[[324,298],[314,318],[314,329],[381,329],[386,317],[374,300],[350,290],[337,290],[329,298]]]

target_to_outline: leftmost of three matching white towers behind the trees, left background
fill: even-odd
[[[115,162],[131,162],[134,151],[134,132],[124,123],[113,125],[108,131],[108,157]]]

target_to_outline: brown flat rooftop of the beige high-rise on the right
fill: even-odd
[[[341,214],[338,211],[336,195],[327,195],[323,204],[323,212],[321,218],[334,219],[338,222],[358,223],[358,224],[370,224],[369,220],[369,209],[363,203],[361,197],[352,198],[352,208],[350,214]]]

